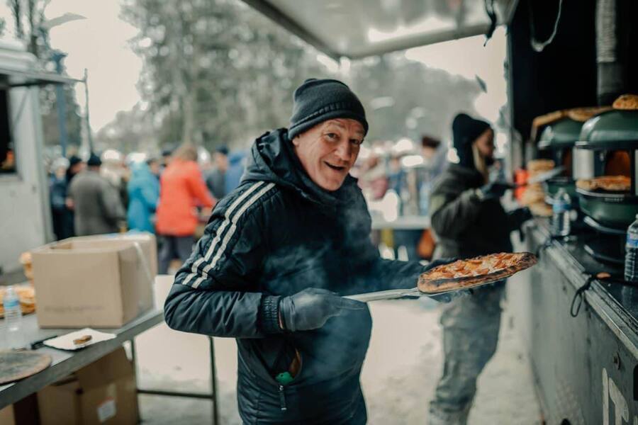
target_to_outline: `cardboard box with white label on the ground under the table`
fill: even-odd
[[[42,425],[137,424],[135,369],[124,348],[38,392]]]

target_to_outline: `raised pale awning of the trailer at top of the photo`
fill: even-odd
[[[492,0],[243,0],[338,59],[359,59],[484,34]],[[508,23],[517,0],[493,1]]]

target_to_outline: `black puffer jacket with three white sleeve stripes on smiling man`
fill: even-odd
[[[240,186],[220,200],[164,305],[169,327],[237,339],[237,399],[247,424],[348,423],[365,417],[359,373],[369,310],[349,310],[312,331],[279,329],[279,297],[305,288],[340,295],[411,288],[423,267],[379,258],[356,179],[335,192],[306,175],[286,129],[254,142]],[[274,379],[295,351],[301,369]],[[363,413],[362,413],[363,412]]]

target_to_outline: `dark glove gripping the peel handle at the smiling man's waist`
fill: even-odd
[[[332,316],[342,314],[344,310],[362,310],[363,302],[340,297],[329,290],[306,288],[295,295],[281,298],[279,314],[284,329],[289,331],[307,331],[323,327]]]

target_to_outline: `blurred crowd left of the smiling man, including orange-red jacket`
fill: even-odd
[[[50,166],[50,206],[57,240],[138,231],[158,236],[159,273],[191,254],[196,229],[217,200],[239,185],[242,152],[218,147],[213,162],[199,161],[184,144],[161,157],[126,161],[116,151],[55,159]]]

